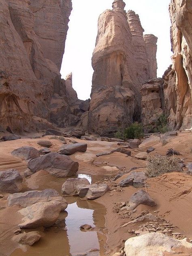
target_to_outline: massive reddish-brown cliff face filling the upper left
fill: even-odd
[[[30,131],[41,118],[41,122],[54,121],[58,114],[52,102],[55,98],[60,98],[63,115],[67,114],[59,69],[70,11],[70,0],[0,1],[2,128]]]

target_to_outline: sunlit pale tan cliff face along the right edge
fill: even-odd
[[[173,65],[164,74],[164,95],[169,126],[192,126],[192,2],[171,0],[171,45]]]

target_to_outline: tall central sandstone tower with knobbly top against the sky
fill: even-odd
[[[156,73],[149,73],[149,62],[154,67],[154,50],[147,55],[151,40],[145,43],[138,15],[132,11],[126,15],[124,7],[122,0],[115,0],[113,10],[98,20],[88,130],[101,135],[140,121],[139,90],[143,82],[156,78]]]

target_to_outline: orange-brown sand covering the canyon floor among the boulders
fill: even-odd
[[[41,139],[50,138],[51,136],[46,136]],[[11,151],[25,145],[41,149],[42,147],[37,144],[39,140],[22,138],[16,141],[0,142],[0,171],[17,169],[23,175],[23,171],[26,170],[26,161],[13,157]],[[85,142],[79,139],[73,140]],[[50,139],[50,141],[53,143],[50,148],[51,151],[57,151],[63,145],[61,141],[56,139]],[[128,172],[133,167],[145,170],[146,161],[137,160],[134,156],[139,151],[145,151],[149,146],[155,147],[155,151],[150,153],[152,155],[165,155],[167,149],[173,148],[182,154],[179,158],[185,160],[185,163],[192,162],[192,133],[179,132],[177,137],[170,137],[167,139],[167,142],[166,145],[162,146],[161,141],[149,141],[139,149],[132,149],[132,157],[117,152],[108,156],[96,157],[97,153],[109,151],[119,146],[117,146],[117,143],[112,142],[86,141],[88,146],[87,152],[76,153],[71,156],[73,160],[79,162],[79,174],[91,175],[92,182],[99,181],[100,179],[106,182],[109,180],[111,191],[95,200],[107,208],[107,214],[105,215],[107,229],[107,242],[105,243],[106,255],[107,253],[119,252],[120,248],[124,245],[124,241],[134,236],[128,233],[128,230],[137,230],[139,228],[138,224],[122,228],[121,226],[130,220],[114,210],[114,203],[127,202],[130,196],[138,189],[127,187],[122,188],[122,191],[116,191],[114,185],[117,181],[111,181],[111,177],[114,177],[121,171]],[[23,191],[55,188],[58,192],[61,192],[62,183],[65,180],[55,178],[45,171],[39,171],[23,181]],[[184,169],[183,173],[164,174],[160,177],[147,179],[146,183],[146,190],[154,198],[157,205],[156,207],[140,205],[137,207],[137,213],[135,215],[143,210],[148,210],[154,215],[164,218],[165,221],[172,223],[175,226],[174,232],[179,232],[192,240],[192,175]],[[0,199],[0,256],[9,256],[18,246],[13,243],[12,237],[14,230],[17,229],[17,224],[21,220],[21,216],[17,213],[17,207],[7,207],[6,197],[9,194],[2,194],[5,197]],[[23,250],[26,251],[26,254],[20,254],[18,252],[14,256],[32,255],[31,253],[28,254],[28,247],[23,247]],[[30,252],[32,252],[31,249]],[[186,255],[188,256],[190,254]],[[55,254],[55,256],[58,255]]]

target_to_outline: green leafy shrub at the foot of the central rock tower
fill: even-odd
[[[144,136],[143,125],[138,122],[134,122],[123,131],[115,132],[114,136],[117,139],[141,139]]]

